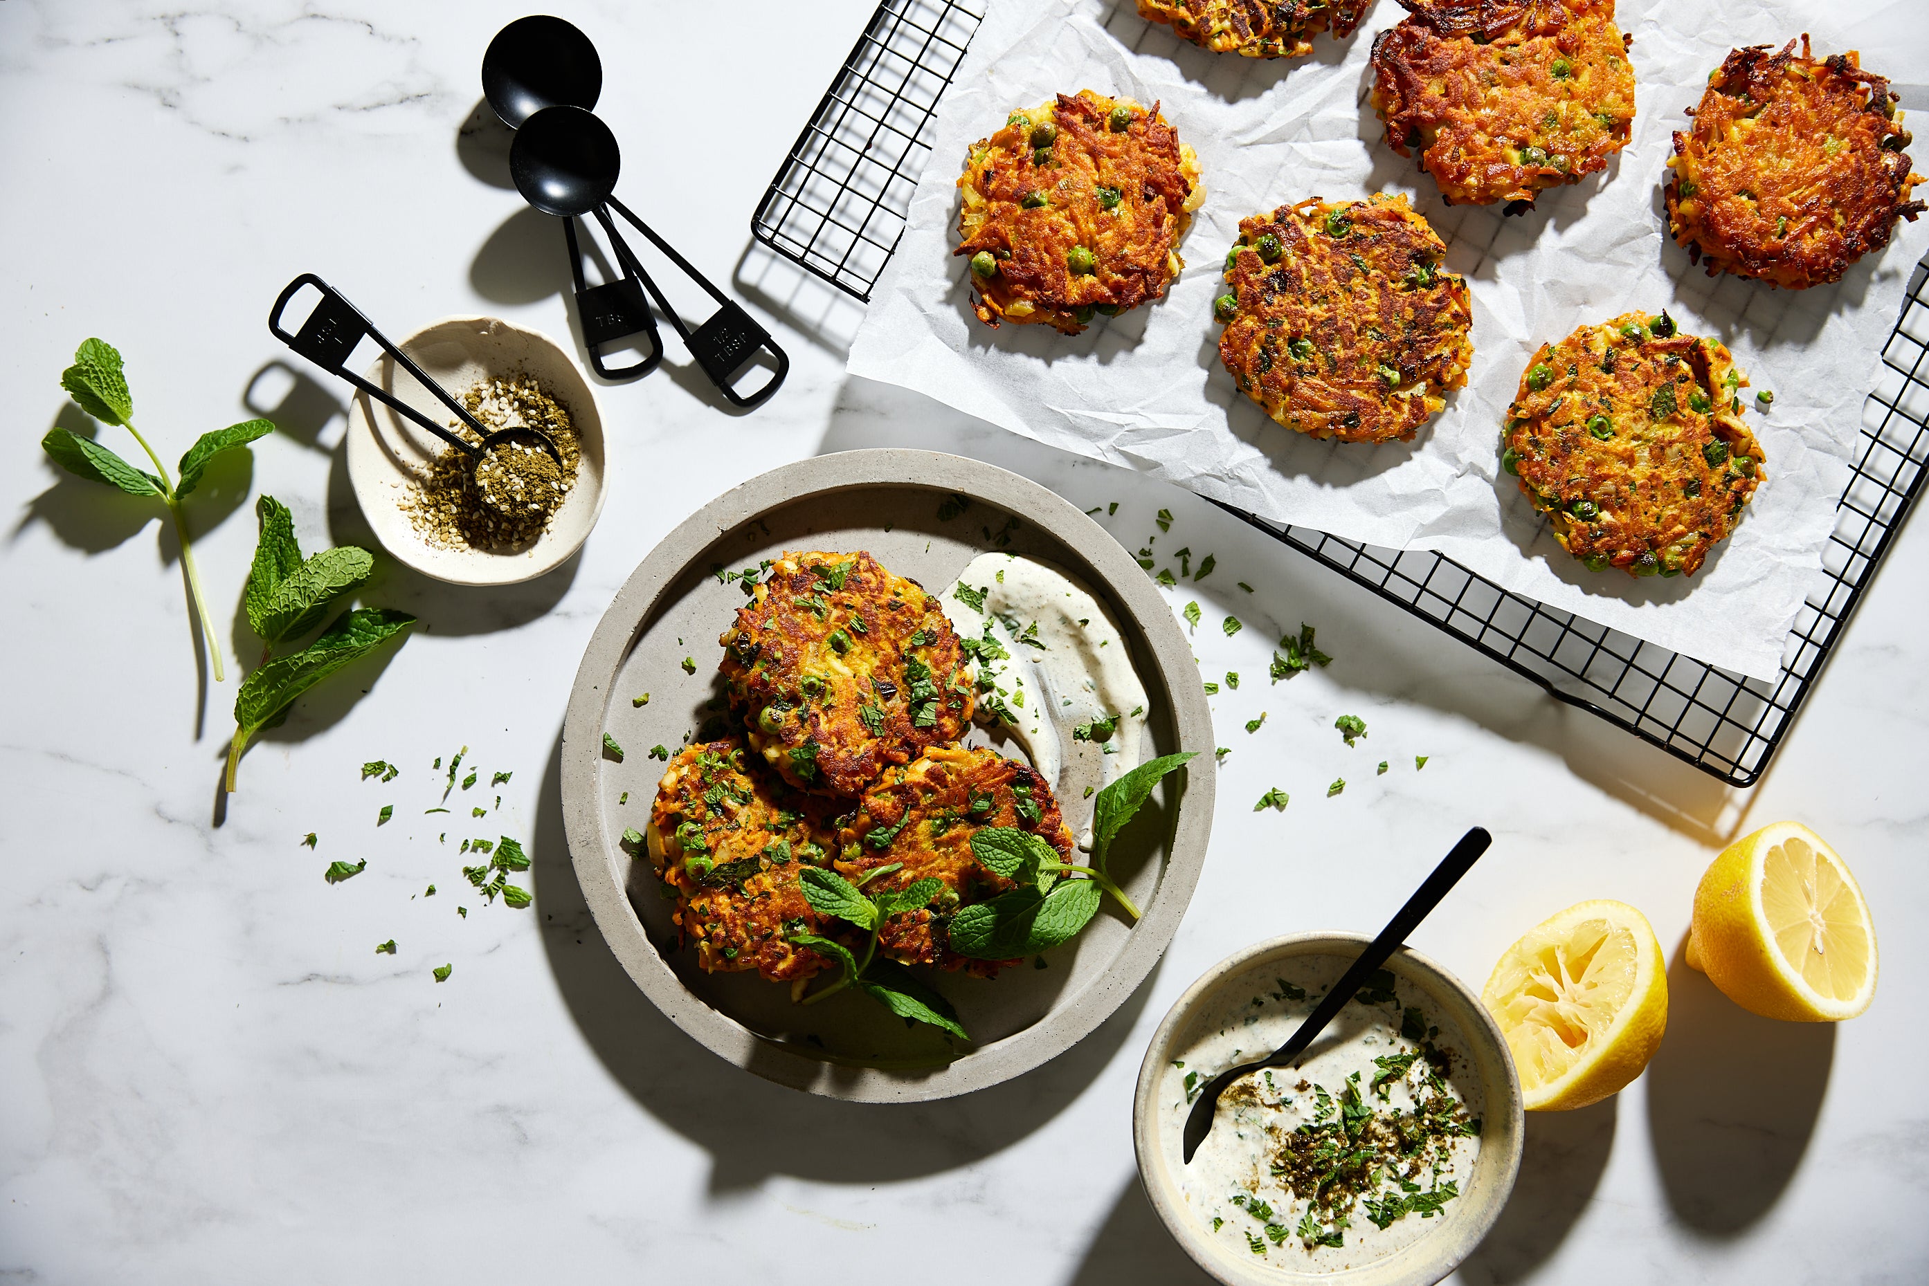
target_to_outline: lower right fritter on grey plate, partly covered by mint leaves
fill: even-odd
[[[866,889],[903,889],[934,877],[943,893],[930,906],[893,916],[878,933],[878,951],[903,964],[934,964],[992,978],[1015,960],[974,960],[951,951],[945,925],[959,906],[984,902],[1013,883],[972,856],[970,837],[988,825],[1032,831],[1069,862],[1065,829],[1051,785],[1030,765],[995,750],[936,748],[909,767],[889,769],[864,792],[837,833],[835,868],[851,881],[893,862]]]

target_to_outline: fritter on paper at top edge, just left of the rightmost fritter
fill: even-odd
[[[1615,0],[1400,0],[1373,40],[1387,147],[1449,202],[1528,202],[1628,145],[1634,67]]]

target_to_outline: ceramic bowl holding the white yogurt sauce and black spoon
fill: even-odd
[[[1250,1255],[1233,1253],[1219,1240],[1213,1240],[1211,1230],[1190,1213],[1173,1172],[1179,1165],[1177,1143],[1169,1147],[1165,1138],[1165,1130],[1177,1138],[1177,1124],[1159,1118],[1159,1082],[1171,1060],[1184,1053],[1179,1045],[1188,1035],[1192,1016],[1215,1005],[1221,999],[1221,989],[1250,970],[1292,956],[1352,958],[1366,951],[1370,941],[1356,933],[1294,933],[1246,947],[1206,970],[1179,997],[1146,1049],[1146,1060],[1138,1068],[1138,1093],[1132,1099],[1132,1147],[1138,1153],[1138,1178],[1146,1186],[1152,1209],[1159,1213],[1159,1220],[1165,1222],[1165,1230],[1173,1234],[1181,1249],[1227,1286],[1312,1286],[1314,1282],[1321,1286],[1331,1282],[1345,1282],[1345,1286],[1433,1286],[1480,1246],[1514,1190],[1526,1116],[1520,1107],[1520,1078],[1514,1074],[1514,1057],[1507,1049],[1507,1039],[1481,1006],[1476,991],[1426,956],[1402,949],[1393,952],[1387,968],[1433,999],[1460,1028],[1462,1047],[1458,1053],[1470,1060],[1485,1101],[1480,1155],[1474,1161],[1474,1178],[1466,1192],[1447,1205],[1437,1220],[1429,1220],[1435,1226],[1420,1240],[1402,1246],[1385,1259],[1373,1259],[1343,1273],[1291,1273],[1254,1261]],[[1250,987],[1240,983],[1240,989]]]

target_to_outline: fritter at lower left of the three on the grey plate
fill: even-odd
[[[689,746],[664,769],[644,843],[706,972],[802,981],[828,964],[787,941],[835,933],[797,885],[801,866],[829,856],[826,808],[748,764],[735,738]]]

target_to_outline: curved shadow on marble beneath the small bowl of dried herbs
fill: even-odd
[[[529,625],[561,602],[583,567],[583,551],[577,549],[554,571],[534,580],[463,586],[424,576],[413,567],[397,563],[376,540],[374,528],[368,526],[368,519],[361,511],[361,501],[355,499],[355,486],[349,482],[347,436],[336,443],[328,459],[328,538],[338,546],[361,546],[374,555],[374,576],[359,592],[361,602],[415,615],[419,619],[417,634],[463,638]],[[245,619],[235,623],[235,638],[253,638]],[[247,656],[245,650],[243,656]]]

